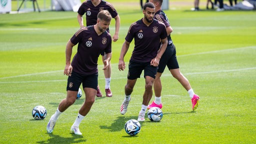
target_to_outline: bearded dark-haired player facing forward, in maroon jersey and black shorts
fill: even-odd
[[[137,78],[140,77],[142,70],[144,70],[145,91],[141,110],[138,114],[138,121],[145,120],[145,110],[152,97],[152,85],[157,66],[167,46],[165,25],[153,18],[154,13],[154,4],[146,2],[143,7],[144,17],[130,25],[119,56],[118,69],[124,70],[125,63],[123,58],[129,48],[130,42],[134,38],[134,49],[129,60],[127,83],[124,86],[125,98],[120,106],[120,113],[124,114],[127,111],[133,87]],[[160,41],[162,45],[159,48]]]

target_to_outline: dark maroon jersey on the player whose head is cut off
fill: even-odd
[[[104,0],[101,0],[97,6],[94,6],[91,0],[85,0],[80,5],[77,13],[80,15],[86,13],[86,26],[89,26],[97,23],[97,14],[101,10],[108,10],[113,18],[117,15],[113,5]]]

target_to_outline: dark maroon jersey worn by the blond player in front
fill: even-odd
[[[111,52],[111,35],[105,31],[98,35],[93,25],[80,28],[70,38],[73,44],[77,44],[71,65],[73,71],[81,74],[93,74],[98,71],[97,61],[101,51]]]

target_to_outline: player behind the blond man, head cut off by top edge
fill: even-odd
[[[111,16],[115,19],[115,32],[112,37],[113,41],[116,41],[118,39],[118,32],[120,27],[120,17],[113,7],[113,5],[109,2],[106,2],[104,0],[85,0],[79,7],[77,11],[77,20],[80,25],[80,27],[84,27],[83,25],[83,18],[82,15],[86,13],[86,26],[96,24],[97,20],[97,13],[101,10],[108,10],[111,14]],[[109,29],[107,28],[107,32],[109,32]],[[102,55],[102,61],[104,60],[104,51],[100,53]],[[110,64],[110,63],[109,63]],[[107,68],[107,70],[104,70],[104,76],[105,76],[105,93],[107,97],[112,96],[112,92],[110,90],[110,80],[111,80],[111,66]],[[97,86],[97,97],[101,97],[101,91],[99,90],[99,87]]]

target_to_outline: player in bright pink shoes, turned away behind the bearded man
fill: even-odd
[[[152,101],[152,103],[150,105],[148,105],[147,109],[154,107],[154,106],[162,108],[162,103],[161,103],[162,85],[161,85],[160,76],[161,76],[165,66],[167,65],[172,76],[175,77],[180,82],[180,84],[187,90],[187,92],[191,98],[191,101],[192,101],[192,110],[195,110],[198,106],[199,96],[194,93],[193,89],[190,86],[189,81],[179,70],[178,61],[176,58],[175,45],[173,44],[171,37],[170,37],[172,28],[169,25],[169,20],[167,18],[167,15],[161,10],[162,0],[149,0],[149,1],[154,3],[154,5],[155,5],[156,12],[155,12],[154,18],[156,18],[159,21],[162,21],[166,26],[166,31],[168,34],[168,36],[167,36],[168,44],[167,44],[166,50],[162,54],[162,57],[159,61],[157,73],[155,75],[155,80],[153,83],[155,100]]]

